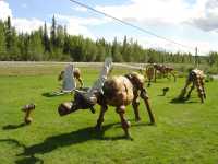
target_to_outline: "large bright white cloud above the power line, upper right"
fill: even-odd
[[[123,21],[142,25],[180,25],[187,23],[204,31],[218,30],[218,0],[131,0],[123,5],[98,5],[104,11]]]

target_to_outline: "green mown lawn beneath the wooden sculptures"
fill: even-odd
[[[78,110],[60,117],[57,107],[71,95],[49,97],[58,90],[57,74],[62,66],[0,67],[0,163],[1,164],[217,164],[218,163],[218,81],[206,83],[207,99],[201,104],[196,91],[185,104],[170,103],[185,79],[158,80],[148,89],[157,125],[148,126],[148,115],[140,106],[141,122],[133,109],[126,117],[133,141],[122,138],[120,118],[112,107],[106,113],[102,131],[96,132],[96,114]],[[85,85],[98,70],[83,68]],[[114,74],[124,72],[116,71]],[[161,89],[169,86],[166,96]],[[23,125],[21,107],[34,102],[31,126]]]

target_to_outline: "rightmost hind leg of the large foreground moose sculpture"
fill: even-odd
[[[145,105],[146,105],[146,108],[147,108],[147,113],[149,115],[149,119],[150,119],[150,124],[152,125],[155,125],[155,117],[153,115],[153,112],[152,112],[152,108],[150,108],[150,105],[149,105],[149,101],[148,101],[148,96],[147,96],[147,92],[145,89],[141,90],[141,98],[143,98]]]

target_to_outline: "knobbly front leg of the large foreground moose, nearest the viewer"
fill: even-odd
[[[119,106],[117,107],[116,112],[119,114],[120,116],[120,119],[121,119],[121,125],[122,125],[122,128],[125,132],[125,137],[128,139],[131,139],[131,134],[130,134],[130,131],[129,131],[129,128],[130,128],[130,122],[126,120],[126,118],[124,117],[124,114],[125,114],[125,106],[122,105],[122,106]]]

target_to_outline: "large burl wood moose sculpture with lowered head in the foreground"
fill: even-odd
[[[101,109],[95,128],[100,130],[108,105],[114,106],[116,112],[120,116],[125,137],[132,139],[129,132],[130,122],[126,120],[124,114],[126,106],[132,103],[136,121],[141,119],[138,115],[138,96],[141,96],[145,102],[150,124],[155,124],[155,117],[150,109],[147,92],[143,86],[144,77],[136,72],[132,72],[125,75],[111,77],[107,79],[110,66],[111,63],[109,62],[109,65],[107,65],[106,61],[101,75],[94,86],[87,92],[76,91],[74,94],[74,101],[72,103],[62,103],[58,110],[61,116],[73,113],[77,109],[88,108],[95,113],[94,105],[99,104]]]

